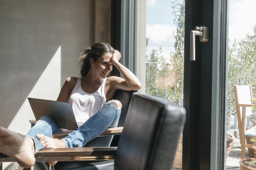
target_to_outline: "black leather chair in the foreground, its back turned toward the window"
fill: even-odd
[[[132,97],[115,160],[59,162],[55,169],[171,169],[185,109],[152,96]]]

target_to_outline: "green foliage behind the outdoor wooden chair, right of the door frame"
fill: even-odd
[[[227,125],[236,114],[234,84],[253,84],[256,78],[256,34],[240,41],[230,41],[228,46]],[[255,92],[255,86],[252,86]]]

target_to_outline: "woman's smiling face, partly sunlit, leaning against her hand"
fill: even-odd
[[[94,71],[97,72],[101,78],[106,78],[113,69],[111,57],[111,53],[103,53],[102,57],[98,58],[97,62],[93,62]]]

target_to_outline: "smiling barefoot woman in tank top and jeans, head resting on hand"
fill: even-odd
[[[141,88],[138,78],[119,63],[120,58],[121,53],[109,44],[96,43],[82,53],[82,77],[70,77],[63,84],[57,100],[72,105],[78,125],[76,131],[61,140],[51,138],[52,133],[62,132],[62,129],[47,116],[39,118],[26,136],[0,127],[0,152],[12,157],[23,167],[31,167],[35,163],[34,154],[41,149],[83,147],[89,141],[94,146],[109,146],[113,137],[92,140],[107,128],[117,126],[122,104],[118,100],[111,100],[115,91],[136,91]],[[124,79],[107,77],[112,64]],[[21,142],[25,139],[26,145]],[[11,144],[10,140],[13,141]],[[8,149],[7,146],[14,149]],[[30,150],[26,149],[28,147]]]

